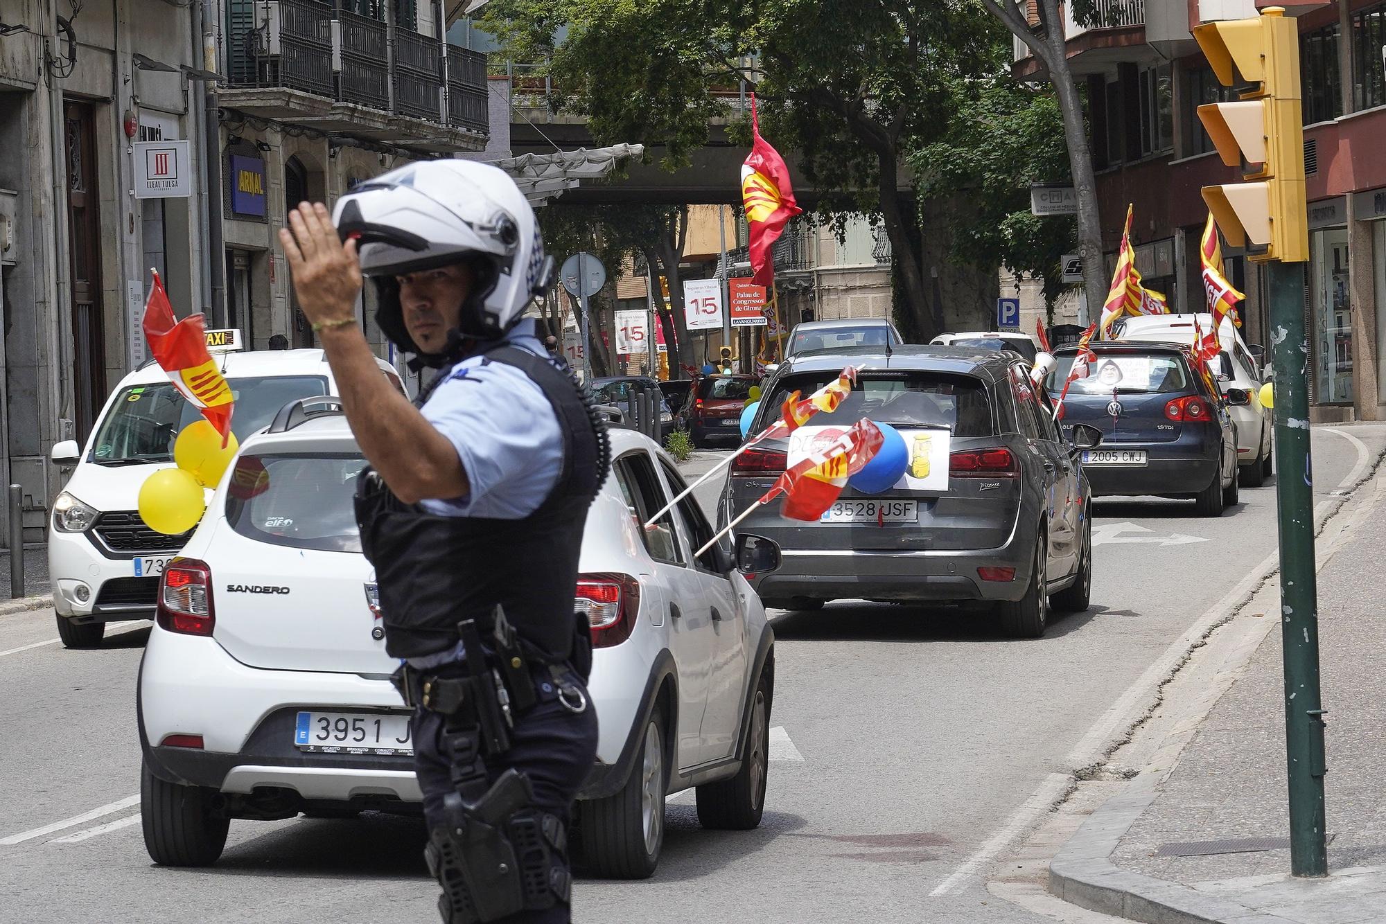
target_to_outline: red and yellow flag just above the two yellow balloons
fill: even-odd
[[[190,314],[176,320],[158,272],[150,272],[154,274],[154,285],[144,305],[144,337],[150,341],[150,352],[173,382],[173,388],[201,410],[202,417],[222,435],[225,449],[231,434],[234,396],[222,370],[207,352],[202,316]]]

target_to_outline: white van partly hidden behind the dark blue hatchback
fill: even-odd
[[[1113,328],[1114,339],[1157,341],[1193,345],[1195,321],[1198,330],[1211,330],[1213,316],[1202,314],[1142,314],[1123,317]],[[1222,352],[1213,364],[1227,395],[1227,403],[1236,423],[1236,463],[1240,465],[1243,488],[1260,488],[1271,474],[1274,425],[1271,411],[1261,406],[1260,363],[1242,339],[1232,319],[1222,319],[1218,331]]]

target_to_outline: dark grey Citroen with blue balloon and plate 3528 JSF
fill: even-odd
[[[751,432],[794,391],[814,392],[852,364],[857,385],[808,427],[863,417],[905,438],[909,461],[876,495],[843,489],[818,522],[786,519],[780,501],[737,526],[779,543],[779,571],[755,576],[766,605],[814,610],[834,598],[987,601],[1005,630],[1044,634],[1049,605],[1084,611],[1092,586],[1091,492],[1078,463],[1100,434],[1080,425],[1066,442],[1049,398],[1010,350],[966,346],[858,348],[790,357],[765,387]],[[827,435],[832,435],[830,431]],[[757,501],[789,461],[790,441],[743,452],[719,515]]]

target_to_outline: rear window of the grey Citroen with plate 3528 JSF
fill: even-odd
[[[764,427],[791,392],[808,396],[834,380],[837,373],[793,375],[780,381],[769,406],[758,414]],[[945,373],[863,373],[851,393],[832,414],[819,411],[814,425],[851,425],[862,417],[900,427],[947,427],[954,436],[991,436],[995,425],[987,387],[972,375]]]

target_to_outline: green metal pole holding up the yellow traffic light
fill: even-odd
[[[1318,587],[1308,445],[1308,335],[1303,263],[1265,265],[1275,366],[1275,499],[1281,529],[1281,632],[1285,640],[1285,752],[1289,767],[1290,874],[1328,876],[1324,841],[1324,709],[1318,688]]]

